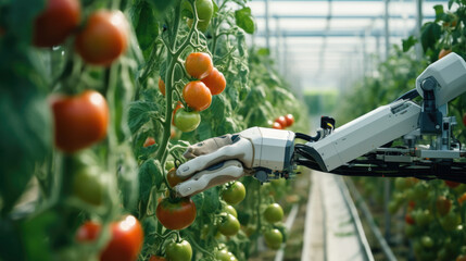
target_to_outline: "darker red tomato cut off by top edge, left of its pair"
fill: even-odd
[[[34,46],[52,47],[62,44],[78,26],[79,20],[79,0],[46,1],[46,9],[34,22]]]

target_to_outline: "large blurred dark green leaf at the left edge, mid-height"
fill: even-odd
[[[3,211],[9,211],[26,188],[36,163],[49,153],[52,124],[46,98],[32,83],[13,75],[0,78],[0,197]]]

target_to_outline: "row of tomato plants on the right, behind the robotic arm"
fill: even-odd
[[[466,5],[451,0],[436,5],[436,20],[421,27],[420,38],[411,36],[402,46],[394,46],[391,55],[379,64],[374,75],[367,76],[349,94],[349,101],[357,99],[357,107],[350,102],[342,105],[342,122],[352,120],[379,105],[390,103],[415,87],[416,77],[425,67],[454,51],[466,58]],[[418,60],[414,46],[419,44],[424,57]],[[455,137],[466,140],[466,96],[449,103],[449,113],[456,116]],[[377,206],[383,204],[383,187],[392,186],[388,210],[392,221],[402,222],[403,245],[411,244],[416,260],[466,260],[466,185],[448,181],[419,181],[415,177],[356,178],[364,195]],[[383,221],[379,220],[382,224]],[[396,226],[399,227],[399,226]],[[394,241],[392,241],[395,246]],[[402,257],[406,258],[406,257]]]

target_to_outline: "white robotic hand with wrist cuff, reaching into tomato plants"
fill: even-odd
[[[291,166],[294,133],[252,127],[238,134],[206,139],[190,146],[176,175],[187,181],[175,186],[179,197],[255,174],[261,182],[268,174],[287,172]]]

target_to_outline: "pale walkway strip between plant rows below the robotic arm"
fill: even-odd
[[[302,261],[374,260],[341,176],[312,172]]]

